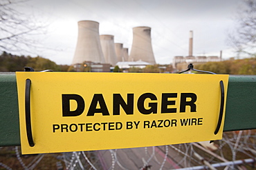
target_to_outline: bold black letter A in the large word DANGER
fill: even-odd
[[[96,108],[99,103],[100,108]],[[102,116],[109,116],[109,110],[102,94],[94,94],[87,116],[94,116],[95,113],[102,113]]]

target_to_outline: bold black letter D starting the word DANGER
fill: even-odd
[[[77,109],[70,110],[70,100],[77,102]],[[62,116],[79,116],[84,111],[84,99],[78,94],[62,94]]]

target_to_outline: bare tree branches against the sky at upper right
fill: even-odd
[[[236,18],[237,28],[228,35],[228,41],[238,54],[256,56],[256,1],[244,0]]]

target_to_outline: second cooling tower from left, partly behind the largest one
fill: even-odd
[[[106,63],[116,65],[118,59],[116,57],[115,45],[113,43],[113,35],[100,35],[100,44]]]

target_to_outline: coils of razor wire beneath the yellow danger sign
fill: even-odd
[[[143,147],[133,149],[109,149],[104,151],[73,151],[55,156],[64,169],[209,169],[223,166],[223,169],[247,169],[255,165],[256,131],[232,131],[223,133],[223,139],[214,141],[211,150],[198,144],[186,143],[158,147]],[[201,146],[201,145],[200,145]],[[3,147],[0,148],[3,149]],[[15,147],[17,162],[22,169],[37,169],[39,162],[46,154],[33,156],[26,162],[21,156],[19,147]],[[206,150],[207,151],[206,151]],[[53,154],[54,153],[47,153]],[[29,155],[28,155],[29,156]],[[241,159],[242,158],[242,159]],[[241,160],[241,161],[240,161]],[[246,161],[244,161],[246,160]],[[58,164],[60,165],[60,162]],[[1,161],[0,167],[13,169]],[[62,168],[60,168],[62,169]]]

